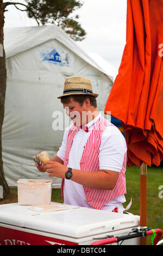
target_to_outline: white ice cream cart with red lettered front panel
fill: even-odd
[[[59,208],[41,211],[18,203],[0,205],[0,244],[91,245],[108,236],[128,235],[140,224],[140,217],[132,214],[51,205]],[[139,245],[139,241],[136,237],[122,245]]]

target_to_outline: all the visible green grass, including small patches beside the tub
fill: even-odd
[[[127,167],[126,171],[127,194],[124,208],[132,198],[133,203],[128,210],[131,214],[140,215],[140,168]],[[162,185],[162,192],[159,186]],[[17,190],[11,189],[8,199],[0,200],[0,204],[16,203]],[[159,198],[159,192],[163,197],[163,167],[148,167],[147,169],[147,227],[163,230],[163,198]],[[52,190],[52,202],[63,203],[60,189]],[[160,220],[160,222],[159,222]],[[159,223],[158,223],[159,222]],[[156,226],[156,224],[158,225]],[[162,237],[163,239],[163,237]],[[151,236],[147,237],[147,245],[151,243]]]

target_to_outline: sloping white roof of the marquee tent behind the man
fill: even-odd
[[[84,52],[82,48],[80,48],[76,42],[70,38],[70,36],[55,25],[4,28],[5,56],[6,58],[9,58],[23,51],[27,51],[30,48],[41,45],[46,41],[54,39],[57,39],[61,44],[65,45],[94,68],[103,72],[105,75],[112,78],[112,80],[114,79],[111,68],[105,70],[103,66],[96,63],[89,54]]]

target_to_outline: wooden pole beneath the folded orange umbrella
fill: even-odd
[[[147,227],[147,164],[140,167],[140,225]],[[140,245],[146,245],[146,237],[140,237]]]

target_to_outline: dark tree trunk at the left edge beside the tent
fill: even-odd
[[[2,124],[4,119],[4,102],[7,71],[5,68],[5,52],[3,47],[4,8],[3,0],[0,0],[0,186],[3,187],[3,199],[9,196],[10,190],[5,180],[2,161]],[[0,196],[2,196],[0,194]]]

